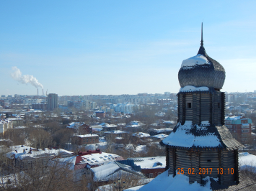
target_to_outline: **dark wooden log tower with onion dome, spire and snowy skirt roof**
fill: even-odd
[[[224,67],[206,54],[203,24],[198,55],[182,62],[179,71],[178,124],[161,144],[166,146],[168,174],[185,174],[189,182],[204,184],[204,177],[220,185],[239,183],[238,149],[224,126]]]

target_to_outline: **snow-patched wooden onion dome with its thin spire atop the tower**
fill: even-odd
[[[203,47],[203,23],[201,29],[201,44],[198,55],[183,60],[178,74],[181,88],[186,85],[195,87],[206,86],[220,90],[225,81],[224,67],[206,54]]]

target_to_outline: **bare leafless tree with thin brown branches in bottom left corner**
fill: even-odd
[[[58,159],[50,160],[45,165],[38,159],[29,169],[14,169],[14,173],[8,176],[9,182],[2,178],[1,190],[74,190],[70,165]]]

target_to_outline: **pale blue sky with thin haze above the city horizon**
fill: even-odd
[[[0,1],[0,95],[33,95],[12,67],[58,95],[177,93],[204,47],[224,91],[256,90],[256,1]],[[41,90],[40,90],[41,92]]]

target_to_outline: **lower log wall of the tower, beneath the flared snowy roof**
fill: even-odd
[[[221,185],[232,185],[235,181],[239,182],[237,150],[195,151],[169,148],[167,152],[168,174],[175,176],[176,170],[182,168],[185,175],[189,177],[190,183],[196,181],[201,184],[203,178],[207,176],[219,177]],[[195,169],[194,174],[188,174],[189,168]],[[223,169],[223,174],[221,174],[221,168]],[[199,174],[200,169],[205,169],[205,173]],[[231,169],[234,169],[234,174],[231,173]]]

